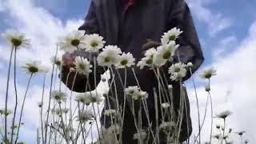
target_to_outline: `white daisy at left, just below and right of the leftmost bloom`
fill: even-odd
[[[32,61],[27,62],[25,66],[22,66],[22,68],[26,71],[28,74],[36,74],[38,72],[45,72],[45,70],[42,69],[40,66],[41,62],[39,61]]]

